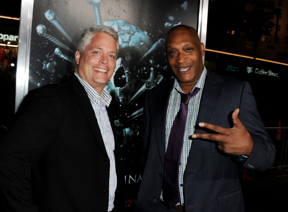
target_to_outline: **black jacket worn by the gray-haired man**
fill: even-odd
[[[117,189],[123,166],[114,119]],[[107,211],[110,161],[86,91],[73,75],[38,89],[0,144],[1,211]]]

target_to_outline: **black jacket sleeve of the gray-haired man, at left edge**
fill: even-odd
[[[61,111],[55,91],[40,88],[1,141],[1,211],[38,211],[31,195],[31,169],[57,135]]]

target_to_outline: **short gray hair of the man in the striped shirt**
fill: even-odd
[[[93,25],[90,28],[85,29],[80,36],[76,50],[79,50],[81,55],[85,51],[86,46],[90,43],[91,38],[95,35],[95,33],[110,34],[116,41],[117,52],[118,52],[118,49],[119,49],[118,33],[115,31],[115,29],[106,25]]]

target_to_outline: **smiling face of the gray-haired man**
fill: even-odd
[[[112,77],[116,66],[117,44],[107,33],[95,33],[81,55],[75,53],[75,72],[99,95]]]

